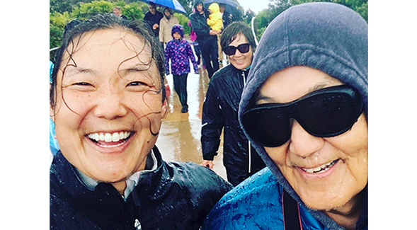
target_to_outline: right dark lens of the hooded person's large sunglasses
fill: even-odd
[[[358,107],[349,94],[325,93],[299,101],[297,110],[307,132],[317,137],[334,137],[350,130],[362,106]]]

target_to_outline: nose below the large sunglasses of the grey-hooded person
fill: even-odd
[[[324,146],[323,138],[309,134],[297,120],[293,121],[290,140],[290,152],[302,158],[316,153]]]

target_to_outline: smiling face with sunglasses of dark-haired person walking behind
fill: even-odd
[[[239,33],[236,38],[230,42],[229,45],[232,45],[234,47],[238,47],[241,44],[248,43],[248,40],[246,40],[245,35]],[[253,51],[252,47],[249,48],[249,52],[241,53],[239,50],[236,49],[236,52],[234,55],[230,55],[229,61],[230,64],[232,64],[236,69],[245,69],[249,67],[252,63],[252,57],[253,57]]]

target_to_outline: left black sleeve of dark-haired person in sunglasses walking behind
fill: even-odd
[[[224,127],[224,115],[219,103],[217,88],[210,82],[202,105],[201,146],[202,159],[212,161],[217,155],[220,134]]]

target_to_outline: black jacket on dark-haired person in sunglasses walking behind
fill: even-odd
[[[224,128],[223,163],[227,178],[236,185],[265,167],[262,159],[251,147],[239,125],[239,101],[248,71],[236,69],[232,64],[215,72],[202,107],[201,144],[205,160],[213,160]],[[232,174],[232,178],[231,175]]]

